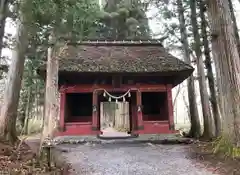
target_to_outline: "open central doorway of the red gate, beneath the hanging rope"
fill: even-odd
[[[112,96],[121,96],[113,93]],[[104,95],[105,96],[105,95]],[[101,137],[129,137],[131,136],[131,97],[109,100],[109,97],[99,96],[99,118]]]

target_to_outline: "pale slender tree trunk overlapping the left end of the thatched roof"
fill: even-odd
[[[51,44],[54,43],[54,37],[54,35],[49,36]],[[58,113],[58,57],[56,55],[56,48],[50,46],[47,55],[46,94],[41,145],[46,138],[53,138]]]

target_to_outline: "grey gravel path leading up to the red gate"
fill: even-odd
[[[61,145],[71,175],[213,175],[188,159],[187,146],[142,144]]]

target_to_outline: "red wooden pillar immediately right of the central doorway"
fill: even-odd
[[[142,117],[142,92],[137,91],[137,130],[144,130]]]

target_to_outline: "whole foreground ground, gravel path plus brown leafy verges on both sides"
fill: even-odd
[[[38,139],[29,139],[28,141],[26,141],[26,143],[27,144],[25,143],[21,144],[21,146],[18,145],[18,146],[12,147],[6,143],[0,142],[0,174],[11,174],[11,175],[64,174],[60,168],[53,168],[52,171],[49,172],[47,169],[46,163],[44,162],[41,162],[41,164],[38,163],[35,155],[39,145]],[[199,171],[200,174],[204,172],[205,174],[240,175],[240,160],[226,158],[226,157],[223,157],[222,155],[212,154],[212,149],[211,149],[212,147],[209,146],[209,143],[206,143],[206,142],[196,142],[194,144],[187,146],[186,148],[184,148],[185,146],[183,147],[177,146],[177,145],[161,146],[161,145],[154,145],[154,144],[153,145],[137,144],[135,146],[134,145],[121,145],[121,146],[112,145],[111,146],[111,144],[108,146],[107,145],[101,146],[101,144],[91,146],[90,144],[90,145],[65,145],[63,147],[65,147],[65,149],[68,149],[67,152],[62,153],[63,157],[68,158],[69,163],[72,164],[75,170],[81,167],[80,172],[82,174],[84,174],[83,172],[85,172],[85,174],[88,174],[88,175],[90,172],[92,174],[96,173],[96,170],[97,172],[100,171],[100,172],[104,172],[105,174],[114,174],[113,171],[111,171],[112,169],[114,169],[114,172],[116,170],[120,171],[121,168],[123,169],[126,168],[128,164],[123,163],[122,166],[119,164],[116,164],[115,165],[116,167],[115,167],[113,166],[113,162],[114,162],[113,161],[110,166],[107,162],[104,162],[104,160],[106,160],[106,156],[109,156],[107,160],[109,160],[110,158],[111,159],[115,158],[115,159],[124,159],[124,160],[131,161],[132,159],[135,160],[138,158],[136,157],[136,155],[138,155],[136,151],[138,150],[139,152],[141,152],[140,153],[141,161],[133,161],[133,162],[135,162],[135,164],[136,162],[139,162],[139,164],[141,164],[141,167],[143,167],[142,166],[143,164],[145,165],[145,169],[142,168],[142,171],[138,172],[138,174],[141,174],[141,173],[145,175],[148,173],[154,174],[154,172],[158,172],[158,171],[155,171],[155,169],[158,169],[158,168],[160,168],[161,171],[165,170],[166,172],[167,171],[170,172],[172,165],[175,164],[176,166],[179,165],[179,171],[181,170],[181,168],[182,170],[179,173],[174,171],[172,172],[173,174],[181,174],[181,175],[183,175],[184,173],[191,174],[190,170],[192,169],[192,172]],[[184,151],[185,149],[188,149],[189,151],[186,150],[185,152]],[[150,154],[151,152],[153,153]],[[190,154],[188,154],[187,152],[189,152]],[[96,157],[96,155],[98,156]],[[144,161],[142,160],[142,157],[144,155],[145,157],[152,156],[156,158],[157,161],[154,161],[154,162],[155,164],[156,162],[158,162],[157,165],[154,166],[154,162],[150,161],[152,160],[152,158],[149,160],[149,162],[147,161],[148,159],[144,159],[144,161],[146,161],[144,163]],[[165,159],[163,159],[164,155],[165,155]],[[101,156],[104,159],[101,159]],[[174,156],[176,159],[174,158]],[[60,157],[62,158],[62,156]],[[172,157],[174,159],[172,159],[171,161],[170,160],[167,161],[167,159],[170,159]],[[178,159],[181,159],[181,160],[176,162],[176,160]],[[191,159],[192,159],[192,163],[190,163]],[[161,163],[161,161],[163,160],[164,162]],[[103,161],[101,165],[99,164],[99,161]],[[121,160],[119,161],[121,162]],[[173,163],[174,161],[175,163]],[[129,171],[131,170],[131,168],[133,168],[132,167],[133,165],[137,166],[137,164],[135,165],[133,164],[133,162],[129,164],[131,165],[129,167]],[[183,165],[184,162],[185,162],[185,165]],[[166,164],[169,164],[169,166],[166,166]],[[165,169],[164,169],[164,166],[165,166]],[[93,173],[92,170],[94,170],[95,172]],[[106,171],[110,171],[110,173],[109,172],[106,173]],[[133,172],[135,172],[135,170]],[[170,175],[172,174],[170,173]]]

